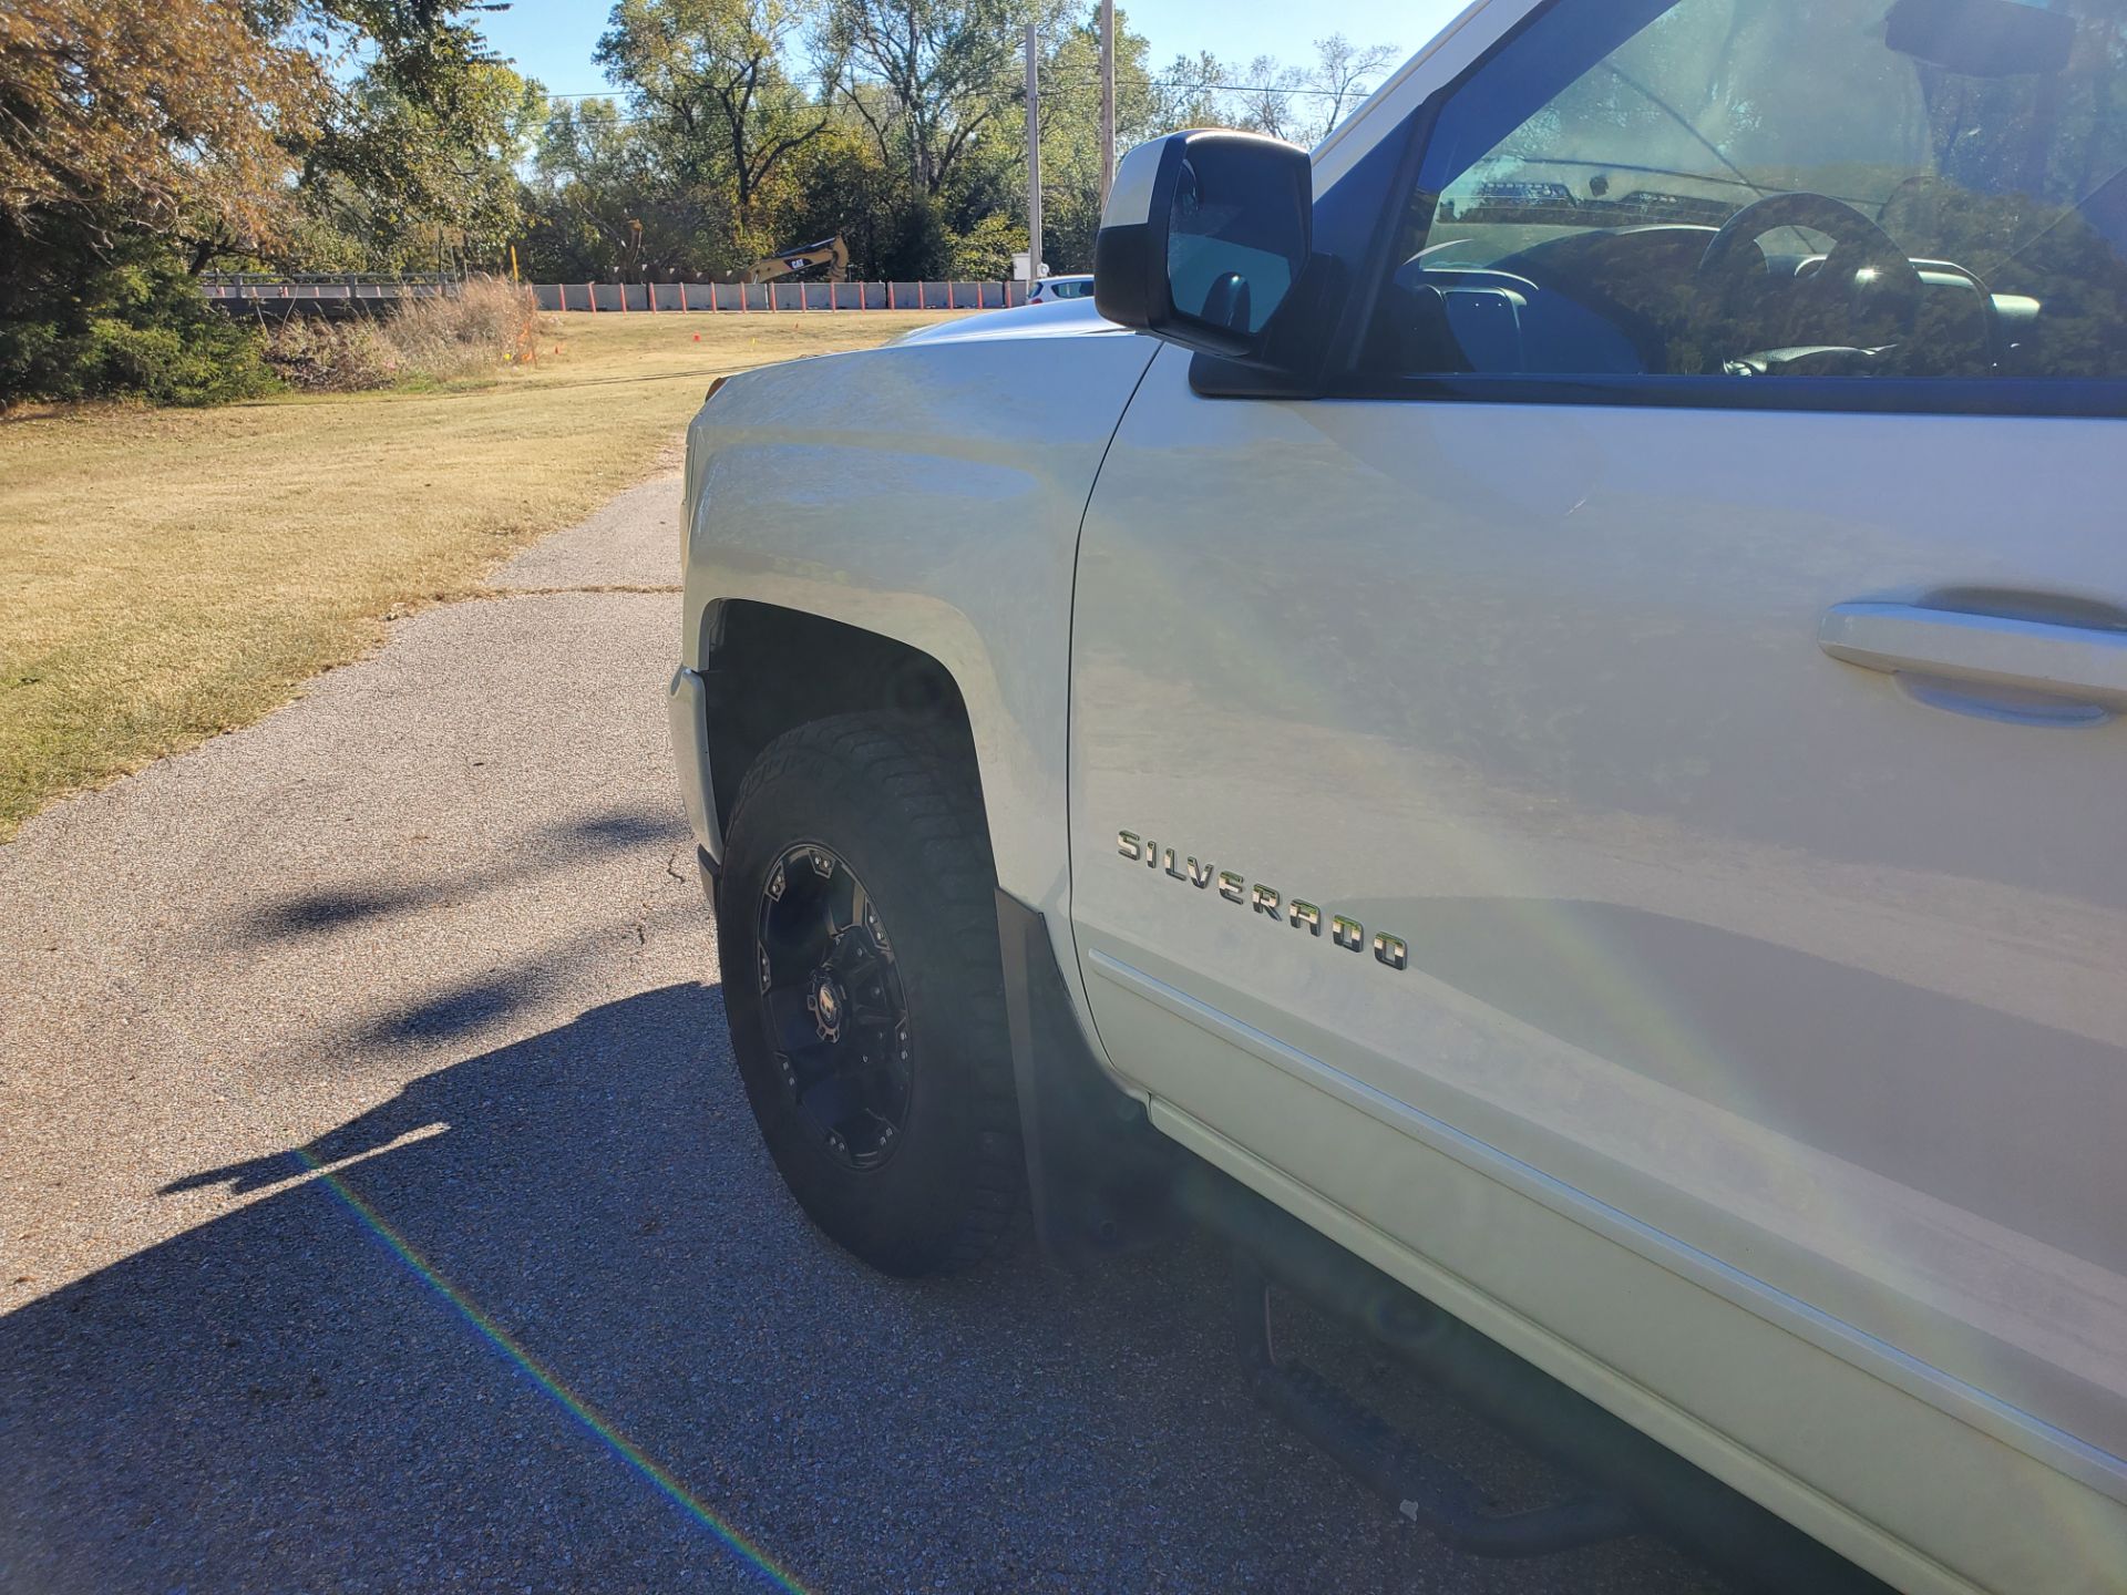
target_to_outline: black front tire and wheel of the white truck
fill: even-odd
[[[747,770],[717,948],[768,1153],[887,1274],[989,1257],[1019,1208],[995,876],[966,757],[929,723],[838,715]]]

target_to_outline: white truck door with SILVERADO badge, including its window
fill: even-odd
[[[1844,1499],[1923,1429],[1736,1312],[2127,1455],[2118,9],[1965,11],[1538,9],[1317,196],[1327,396],[1159,353],[1074,606],[1155,1121]]]

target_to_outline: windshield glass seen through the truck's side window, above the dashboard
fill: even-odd
[[[1891,49],[1876,4],[1685,0],[1438,174],[1431,242],[1497,259],[1585,228],[1721,225],[1765,194],[1808,191],[1980,274],[2078,215],[2123,245],[2121,206],[2104,204],[2127,164],[2110,115],[2123,4],[2053,11],[2074,21],[2065,70],[1978,77]],[[1789,230],[1789,247],[1827,245]]]

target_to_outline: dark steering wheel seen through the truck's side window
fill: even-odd
[[[1774,310],[1774,306],[1763,300],[1746,304],[1740,293],[1755,276],[1748,272],[1748,255],[1744,251],[1774,228],[1808,228],[1831,238],[1831,253],[1825,255],[1814,276],[1804,279],[1804,291],[1791,300],[1791,306],[1802,310],[1802,315],[1782,317],[1776,313],[1768,317],[1768,310]],[[1721,232],[1708,240],[1706,253],[1699,255],[1695,274],[1702,289],[1719,293],[1725,302],[1725,319],[1736,323],[1736,332],[1746,342],[1753,342],[1757,349],[1772,349],[1778,345],[1831,342],[1823,336],[1823,310],[1833,302],[1844,304],[1848,306],[1850,321],[1855,276],[1870,268],[1876,272],[1870,285],[1872,304],[1880,306],[1897,325],[1910,328],[1923,293],[1921,272],[1891,234],[1844,200],[1833,200],[1827,194],[1768,194],[1746,204],[1721,225]],[[1768,325],[1774,321],[1785,321],[1787,325]],[[1859,338],[1853,336],[1853,328],[1848,325],[1838,342],[1859,342]]]

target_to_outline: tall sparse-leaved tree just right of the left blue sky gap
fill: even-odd
[[[657,128],[685,187],[727,185],[755,251],[757,211],[778,168],[827,128],[785,70],[791,0],[621,0],[598,60]]]

